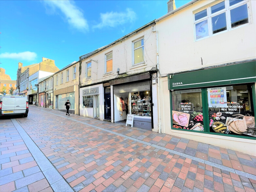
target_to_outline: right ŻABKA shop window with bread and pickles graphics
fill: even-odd
[[[251,88],[248,85],[207,88],[210,132],[255,136]]]

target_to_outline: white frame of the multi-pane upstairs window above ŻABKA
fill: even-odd
[[[220,10],[220,11],[217,11],[213,14],[211,14],[211,7],[213,7],[214,5],[217,5],[219,3],[221,3],[223,1],[217,1],[216,3],[214,4],[211,4],[207,7],[204,7],[204,8],[201,8],[200,10],[197,10],[195,12],[193,12],[193,21],[194,21],[194,39],[195,41],[198,41],[198,40],[203,40],[203,39],[206,39],[206,38],[209,38],[209,37],[212,37],[212,36],[215,36],[215,35],[218,35],[218,34],[221,34],[221,33],[225,33],[227,31],[231,31],[231,30],[234,30],[234,29],[237,29],[237,28],[240,28],[240,27],[243,27],[243,26],[246,26],[248,24],[251,23],[250,21],[250,6],[249,6],[249,1],[248,0],[245,0],[245,1],[241,1],[237,4],[234,4],[232,6],[229,5],[229,0],[227,1],[224,1],[225,2],[225,8]],[[237,7],[240,7],[242,5],[245,5],[247,4],[247,11],[248,11],[248,23],[246,24],[242,24],[242,25],[239,25],[237,27],[234,27],[232,28],[231,27],[231,16],[230,16],[230,10],[234,9],[234,8],[237,8]],[[203,17],[203,18],[200,18],[198,20],[195,20],[195,14],[196,13],[199,13],[200,11],[203,11],[203,10],[207,10],[207,16]],[[227,30],[224,30],[224,31],[221,31],[221,32],[218,32],[218,33],[215,33],[213,34],[213,28],[212,28],[212,17],[216,16],[216,15],[219,15],[221,13],[224,13],[226,14],[226,25],[227,25]],[[205,21],[207,20],[207,24],[208,24],[208,36],[204,37],[204,38],[200,38],[200,39],[196,39],[196,24],[202,22],[202,21]]]

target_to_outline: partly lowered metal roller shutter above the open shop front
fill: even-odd
[[[150,90],[150,81],[113,86],[114,94],[115,93],[134,92],[134,91],[146,91],[146,90]]]

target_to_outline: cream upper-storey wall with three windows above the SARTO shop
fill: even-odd
[[[144,59],[145,63],[132,66],[132,41],[144,37]],[[113,52],[113,70],[105,74],[105,54]],[[90,59],[98,60],[92,62],[92,76],[86,78],[86,63]],[[99,53],[90,56],[82,61],[80,82],[81,86],[110,80],[117,77],[119,73],[135,74],[149,71],[156,66],[156,33],[151,31],[151,26],[141,32],[122,40]]]

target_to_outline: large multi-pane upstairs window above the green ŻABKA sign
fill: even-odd
[[[246,0],[229,0],[219,2],[195,13],[195,39],[207,38],[249,23],[248,6]],[[210,28],[208,28],[209,26]]]

